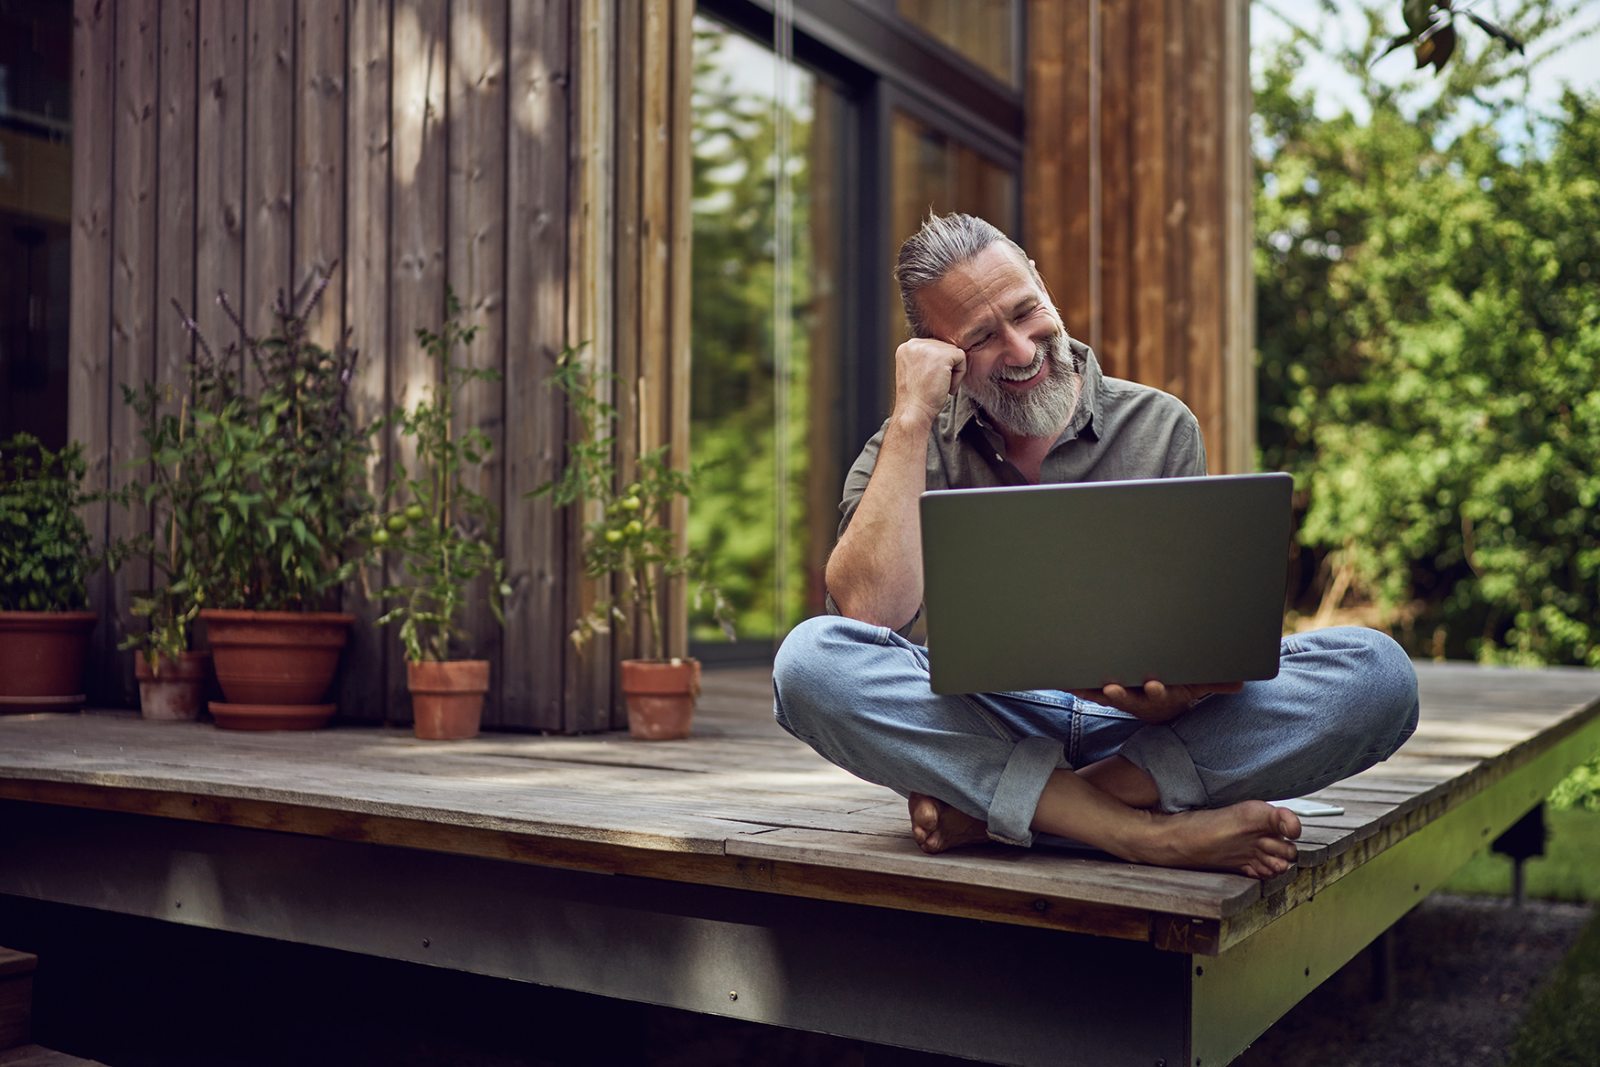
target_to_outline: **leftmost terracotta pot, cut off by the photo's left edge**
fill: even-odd
[[[83,705],[93,611],[0,611],[0,713]]]

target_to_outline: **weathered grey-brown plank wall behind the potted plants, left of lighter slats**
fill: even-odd
[[[70,434],[118,485],[138,427],[118,384],[181,382],[189,339],[170,299],[226,341],[218,290],[264,331],[283,288],[339,262],[315,333],[363,354],[363,418],[414,400],[432,368],[414,341],[445,286],[482,326],[470,358],[501,371],[461,405],[494,440],[480,490],[502,512],[514,595],[506,627],[472,611],[493,662],[486,725],[565,729],[574,667],[565,640],[571,526],[523,493],[563,454],[565,414],[544,387],[571,339],[568,240],[571,0],[78,0],[72,174]],[[582,197],[579,197],[582,200]],[[382,442],[374,485],[406,454]],[[152,517],[96,509],[109,534]],[[102,704],[133,704],[133,589],[147,565],[91,598]],[[339,705],[406,718],[398,640],[362,617]],[[581,725],[581,723],[579,723]]]

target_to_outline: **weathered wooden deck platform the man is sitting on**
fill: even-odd
[[[1035,1048],[998,1033],[907,1040],[893,1022],[853,1021],[851,1011],[819,1021],[826,1011],[795,1008],[794,949],[774,963],[779,971],[787,968],[781,979],[787,998],[770,995],[762,1008],[750,1003],[752,997],[739,1005],[734,989],[706,993],[682,992],[678,985],[674,989],[680,992],[670,992],[672,982],[682,979],[682,960],[662,965],[677,979],[664,976],[653,985],[638,973],[626,979],[597,976],[581,960],[565,960],[552,971],[550,963],[485,960],[467,945],[450,958],[418,953],[403,937],[397,941],[408,947],[389,947],[387,934],[376,926],[360,937],[341,934],[349,917],[323,913],[325,901],[294,904],[274,897],[277,902],[266,910],[238,907],[237,899],[246,893],[254,894],[251,899],[270,893],[294,897],[282,885],[270,893],[264,888],[277,885],[272,878],[285,864],[304,859],[307,870],[336,870],[355,862],[347,857],[370,859],[373,853],[346,849],[315,862],[309,854],[294,859],[299,853],[283,853],[274,870],[262,870],[250,869],[240,851],[248,848],[237,843],[253,841],[253,854],[291,848],[285,843],[290,838],[379,845],[389,846],[384,856],[390,859],[435,856],[427,870],[446,870],[437,867],[446,857],[488,861],[486,867],[448,869],[462,872],[451,877],[483,885],[514,869],[627,875],[629,886],[680,886],[677,896],[666,893],[678,904],[648,907],[694,921],[730,923],[726,929],[717,926],[720,933],[707,945],[720,945],[715,939],[733,936],[730,929],[765,925],[810,929],[808,937],[822,939],[848,929],[851,944],[864,947],[861,939],[870,939],[870,931],[901,929],[896,923],[915,920],[944,923],[930,928],[939,931],[989,931],[974,934],[974,944],[1013,945],[1006,949],[1011,960],[1034,945],[1046,955],[1061,945],[1120,952],[1115,958],[1126,961],[1133,987],[1158,971],[1165,976],[1160,981],[1176,990],[1171,995],[1181,997],[1182,1019],[1173,1024],[1171,1040],[1182,1049],[1174,1053],[1186,1062],[1200,1056],[1219,1064],[1600,749],[1595,672],[1421,664],[1419,677],[1422,721],[1416,736],[1387,763],[1317,793],[1346,808],[1346,814],[1306,819],[1299,867],[1266,885],[1066,849],[994,845],[923,856],[910,840],[898,797],[832,768],[784,734],[771,720],[766,672],[731,670],[707,673],[696,736],[682,742],[645,744],[626,734],[493,734],[424,742],[405,731],[373,728],[250,734],[210,725],[144,723],[128,713],[0,718],[0,827],[6,830],[0,835],[0,893],[414,955],[462,969],[699,1011],[750,1013],[784,1025],[994,1062],[1059,1062],[1040,1051],[1050,1048],[1045,1041]],[[202,837],[170,837],[184,825]],[[277,833],[256,833],[262,830]],[[144,840],[141,835],[149,838],[144,851],[115,859],[122,856],[120,841]],[[77,845],[64,846],[62,837]],[[147,870],[146,854],[162,848],[170,849],[170,862]],[[238,864],[237,870],[216,859],[224,853],[237,853],[229,861]],[[166,897],[178,894],[173,886],[194,885],[194,864],[182,857],[195,854],[213,859],[206,861],[205,885],[189,896],[211,902],[190,899],[184,912],[182,902],[174,905]],[[85,873],[85,856],[109,865],[98,875]],[[354,885],[366,877],[363,870],[352,867],[339,877]],[[149,891],[139,888],[144,881]],[[555,883],[541,886],[517,893],[563,901],[592,896],[589,889],[552,888]],[[795,897],[810,904],[773,910],[779,899]],[[827,910],[818,902],[838,907]],[[294,913],[296,907],[306,915]],[[621,945],[614,931],[622,929],[618,917],[635,915],[640,904],[618,897],[605,907],[613,909],[606,912],[606,950],[637,950]],[[750,920],[752,907],[782,918]],[[893,918],[896,913],[904,918]],[[402,920],[410,921],[394,918]],[[973,928],[970,920],[984,921]],[[526,921],[550,920],[546,915]],[[318,923],[328,933],[315,933]],[[1069,941],[1059,941],[1062,931]],[[526,944],[549,945],[562,936],[546,926],[530,928]],[[1115,944],[1128,949],[1117,950]],[[710,950],[702,945],[690,955]],[[755,949],[744,945],[728,958],[747,960],[750,952]],[[662,960],[659,953],[650,958]],[[923,960],[915,966],[930,965]],[[718,989],[726,985],[709,981]],[[717,1000],[707,1000],[712,995]],[[1240,1008],[1240,998],[1248,1009]],[[774,1008],[779,1000],[782,1006]],[[893,1003],[885,1003],[891,1011]],[[1104,1046],[1107,1059],[1117,1053],[1110,1037],[1088,1046]],[[1142,1048],[1128,1051],[1147,1059]]]

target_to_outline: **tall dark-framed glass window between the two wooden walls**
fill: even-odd
[[[691,609],[701,659],[770,657],[822,609],[845,472],[893,400],[899,243],[930,208],[1016,234],[1021,5],[971,6],[795,0],[781,62],[771,11],[701,2],[690,547],[741,638]]]

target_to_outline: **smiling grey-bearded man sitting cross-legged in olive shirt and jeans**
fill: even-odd
[[[1411,662],[1384,633],[1338,627],[1283,638],[1267,681],[933,694],[928,651],[898,632],[922,603],[923,490],[1202,475],[1205,446],[1176,398],[1101,374],[1032,261],[987,222],[930,216],[894,275],[915,336],[894,355],[894,410],[845,483],[837,614],[778,653],[778,721],[906,795],[926,853],[1042,832],[1166,867],[1286,870],[1299,819],[1264,801],[1398,749],[1416,728]],[[1029,531],[971,545],[1019,568],[1050,549]]]

